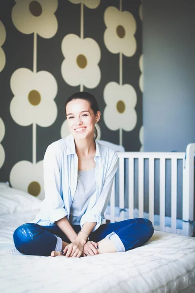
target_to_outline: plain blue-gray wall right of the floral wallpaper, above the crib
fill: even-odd
[[[195,0],[143,0],[144,151],[195,142]]]

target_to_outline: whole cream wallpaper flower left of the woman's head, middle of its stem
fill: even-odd
[[[21,126],[36,123],[47,127],[57,118],[54,101],[58,85],[53,75],[47,71],[33,73],[30,69],[17,69],[10,81],[15,95],[10,104],[13,120]]]

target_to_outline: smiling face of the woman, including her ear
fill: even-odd
[[[66,115],[69,131],[76,139],[94,137],[94,127],[100,119],[100,112],[94,115],[86,100],[72,100],[66,105]]]

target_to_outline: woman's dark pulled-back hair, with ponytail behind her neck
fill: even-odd
[[[68,100],[66,101],[65,103],[65,113],[66,113],[66,106],[69,102],[73,101],[73,100],[77,100],[77,99],[80,99],[80,100],[85,100],[89,103],[91,109],[93,110],[94,112],[94,115],[97,114],[97,112],[99,111],[99,107],[98,107],[98,102],[96,100],[96,98],[88,93],[88,92],[78,92],[78,93],[75,93],[73,95],[71,95]],[[97,139],[98,137],[98,130],[95,126],[94,128],[94,138]]]

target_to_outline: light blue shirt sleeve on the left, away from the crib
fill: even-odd
[[[48,146],[43,159],[43,176],[47,213],[51,224],[68,213],[64,207],[61,191],[60,149]]]

